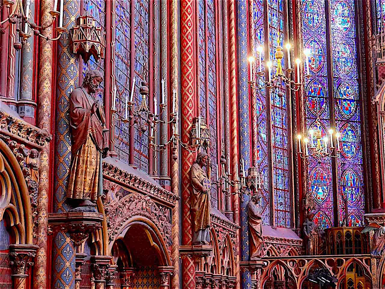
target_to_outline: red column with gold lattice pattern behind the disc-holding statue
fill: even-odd
[[[195,116],[196,106],[196,67],[195,67],[195,1],[180,1],[180,41],[181,41],[181,139],[188,142],[192,120]],[[181,178],[182,178],[182,244],[191,245],[191,179],[190,168],[195,161],[195,153],[181,150]],[[182,260],[182,288],[195,288],[195,265],[190,257]]]

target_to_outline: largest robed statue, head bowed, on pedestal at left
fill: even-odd
[[[107,154],[109,137],[102,105],[92,96],[102,81],[99,71],[88,71],[70,96],[72,165],[67,200],[72,212],[96,212],[97,198],[103,194],[102,155]]]

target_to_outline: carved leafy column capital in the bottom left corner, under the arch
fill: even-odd
[[[27,288],[26,280],[28,269],[33,265],[38,246],[32,244],[20,244],[9,246],[9,259],[12,267],[13,289]]]

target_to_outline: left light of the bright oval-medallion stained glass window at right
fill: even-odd
[[[311,51],[309,67],[312,77],[305,85],[306,130],[320,129],[322,137],[330,126],[328,72],[326,66],[326,18],[325,1],[302,0],[302,34],[304,46]],[[316,123],[320,118],[321,124]],[[310,141],[310,135],[308,136]],[[313,145],[316,139],[313,138]],[[331,227],[333,220],[333,181],[331,179],[331,160],[322,163],[308,159],[308,186],[315,200],[314,221],[318,227]]]

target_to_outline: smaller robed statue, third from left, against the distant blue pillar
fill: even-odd
[[[261,194],[252,196],[247,204],[247,213],[249,217],[250,230],[250,260],[257,260],[260,258],[263,247],[263,232],[262,232],[262,215],[259,207],[259,200]]]

